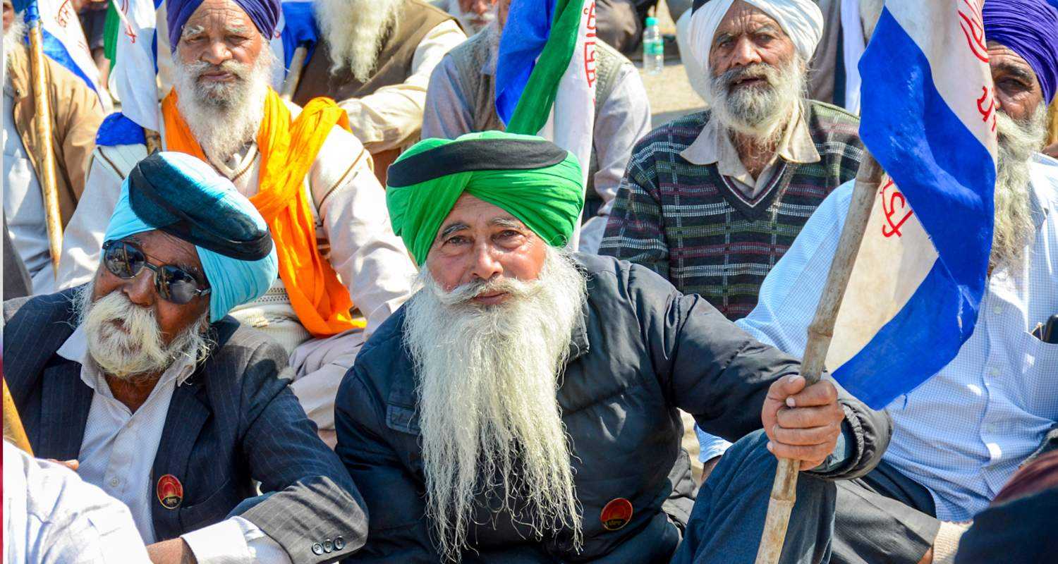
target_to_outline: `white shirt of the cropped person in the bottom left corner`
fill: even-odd
[[[127,507],[3,443],[3,564],[147,564]]]

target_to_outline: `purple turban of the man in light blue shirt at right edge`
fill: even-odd
[[[1058,8],[1054,0],[986,0],[985,37],[1025,59],[1051,104],[1058,91]]]

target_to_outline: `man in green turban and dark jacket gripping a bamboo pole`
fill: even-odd
[[[428,139],[389,168],[417,293],[335,401],[365,501],[352,562],[668,562],[694,502],[677,408],[768,430],[827,477],[877,462],[884,416],[654,272],[565,244],[577,160],[496,131]]]

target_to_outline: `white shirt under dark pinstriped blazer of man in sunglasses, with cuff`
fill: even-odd
[[[114,399],[106,378],[88,354],[87,338],[79,326],[56,353],[79,363],[81,381],[94,392],[77,456],[78,475],[124,503],[132,513],[143,544],[154,543],[151,504],[158,502],[151,468],[172,392],[195,372],[194,360],[180,359],[169,366],[147,400],[133,413]],[[238,516],[185,533],[182,539],[200,564],[290,563],[278,543]]]

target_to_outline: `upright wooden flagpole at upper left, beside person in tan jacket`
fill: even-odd
[[[32,12],[31,12],[32,11]],[[62,216],[59,213],[59,192],[55,180],[55,150],[52,147],[52,108],[48,99],[48,76],[44,60],[42,23],[37,12],[37,3],[26,7],[30,25],[30,72],[33,75],[33,103],[37,138],[40,140],[41,169],[37,170],[44,196],[44,224],[48,228],[48,249],[52,254],[52,269],[59,272],[59,256],[62,253]]]

